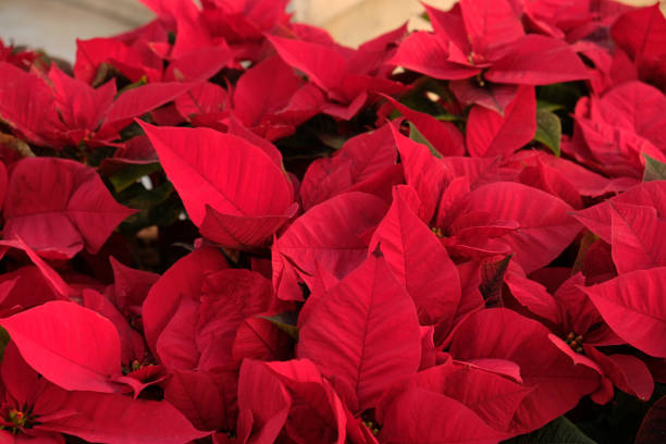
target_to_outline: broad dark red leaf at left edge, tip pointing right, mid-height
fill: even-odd
[[[91,168],[65,159],[27,158],[12,170],[4,236],[21,236],[47,257],[71,258],[84,245],[95,254],[134,212],[113,200]]]

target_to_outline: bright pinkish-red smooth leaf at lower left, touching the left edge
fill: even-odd
[[[115,391],[121,348],[108,319],[74,303],[50,301],[0,319],[26,362],[65,390]]]

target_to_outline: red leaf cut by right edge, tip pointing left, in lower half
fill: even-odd
[[[649,355],[666,358],[666,268],[632,271],[579,288],[618,336]]]

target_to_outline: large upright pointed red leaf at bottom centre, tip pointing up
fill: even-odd
[[[393,380],[419,368],[416,309],[383,258],[370,256],[308,319],[299,331],[297,356],[353,387],[360,410],[373,407]]]

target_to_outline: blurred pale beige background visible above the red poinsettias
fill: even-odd
[[[441,9],[455,1],[427,0]],[[657,0],[621,1],[643,5]],[[411,29],[428,26],[418,17],[422,11],[418,0],[292,0],[289,9],[296,21],[322,26],[348,46],[358,46],[407,18]],[[74,60],[76,38],[111,36],[151,18],[152,13],[137,0],[0,0],[0,37],[5,42],[40,48],[69,61]]]

